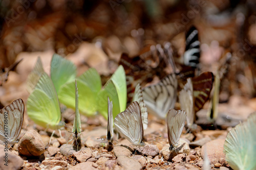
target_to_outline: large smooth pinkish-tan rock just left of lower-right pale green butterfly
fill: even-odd
[[[207,142],[201,149],[201,156],[204,159],[205,150],[208,155],[210,164],[225,162],[225,154],[223,153],[223,145],[225,139],[215,139]]]

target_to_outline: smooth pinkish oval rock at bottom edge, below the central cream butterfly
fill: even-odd
[[[117,163],[122,166],[126,170],[139,170],[142,169],[140,163],[133,158],[129,158],[126,156],[119,156],[117,158]]]

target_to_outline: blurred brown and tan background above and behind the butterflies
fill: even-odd
[[[6,105],[27,99],[24,82],[38,56],[47,71],[57,53],[79,66],[79,74],[95,67],[107,76],[122,53],[135,56],[148,44],[168,41],[175,60],[182,62],[185,31],[192,25],[199,30],[203,71],[215,73],[221,59],[228,52],[232,55],[220,103],[236,112],[256,110],[253,0],[0,0],[2,72],[23,58],[1,87],[0,100]]]

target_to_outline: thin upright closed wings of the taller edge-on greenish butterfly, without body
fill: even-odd
[[[79,134],[81,132],[81,119],[80,119],[80,114],[78,110],[78,88],[77,88],[77,83],[75,81],[75,97],[76,97],[76,110],[75,110],[75,119],[73,123],[73,130],[72,133]]]

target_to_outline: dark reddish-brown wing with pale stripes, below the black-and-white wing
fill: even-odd
[[[192,78],[193,95],[195,99],[195,113],[200,110],[209,99],[210,90],[214,83],[212,72],[203,72],[200,76]]]

